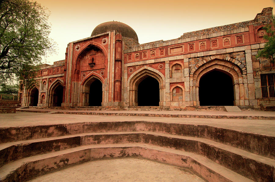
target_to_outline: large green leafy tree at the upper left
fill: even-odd
[[[34,81],[42,57],[54,52],[49,12],[30,0],[0,0],[0,83]]]

